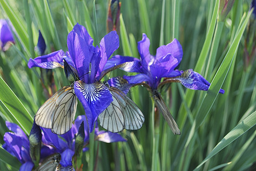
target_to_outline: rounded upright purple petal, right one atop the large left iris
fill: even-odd
[[[99,72],[101,72],[107,62],[107,59],[113,54],[119,47],[118,34],[115,31],[109,32],[101,39],[100,51],[101,51],[101,62],[99,63]],[[100,73],[99,73],[100,75]]]

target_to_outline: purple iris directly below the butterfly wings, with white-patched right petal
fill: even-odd
[[[61,154],[61,166],[69,167],[72,165],[72,157],[75,154],[75,135],[77,135],[81,123],[86,123],[85,115],[79,115],[75,119],[73,126],[67,133],[58,136],[51,132],[51,129],[41,128],[43,131],[42,142],[46,146],[54,146],[57,153]],[[83,141],[83,146],[89,143],[89,128],[87,124],[84,124],[85,138]],[[105,143],[114,143],[117,141],[126,141],[118,133],[112,133],[107,131],[99,131],[98,125],[95,127],[95,140],[103,141]],[[87,148],[83,148],[86,151]]]

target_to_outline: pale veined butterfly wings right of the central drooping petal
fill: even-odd
[[[101,127],[110,132],[141,128],[145,118],[138,106],[119,89],[110,87],[109,91],[113,101],[98,116]]]

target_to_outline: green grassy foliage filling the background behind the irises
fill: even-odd
[[[225,21],[218,20],[219,1],[120,0],[120,47],[115,54],[139,58],[137,42],[142,33],[150,39],[150,52],[177,38],[183,59],[179,70],[193,68],[205,76],[208,92],[166,86],[162,96],[179,128],[174,136],[160,116],[154,128],[152,102],[146,88],[135,87],[129,96],[145,115],[138,131],[123,131],[127,143],[90,141],[83,155],[83,170],[253,170],[255,146],[255,62],[245,67],[244,48],[251,1],[237,0]],[[0,52],[0,144],[9,130],[5,120],[17,123],[29,134],[37,109],[48,98],[39,82],[41,70],[29,69],[29,58],[38,56],[38,30],[46,40],[46,54],[67,50],[67,34],[75,23],[87,28],[99,44],[106,34],[108,1],[0,1],[1,18],[9,18],[17,35],[15,45]],[[249,36],[247,36],[249,34]],[[247,44],[252,46],[253,41]],[[250,49],[249,49],[250,51]],[[254,54],[255,56],[255,54]],[[53,70],[57,89],[69,85],[62,68]],[[117,70],[110,77],[126,74]],[[219,88],[225,94],[218,94]],[[77,115],[84,115],[81,104]],[[0,147],[0,169],[18,170],[18,160]]]

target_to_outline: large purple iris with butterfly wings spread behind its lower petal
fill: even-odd
[[[111,54],[119,47],[117,32],[111,31],[99,43],[93,46],[93,39],[85,27],[77,24],[67,36],[68,52],[63,50],[30,59],[28,66],[52,69],[64,67],[63,59],[69,64],[78,79],[74,78],[74,91],[81,101],[90,132],[98,115],[113,101],[109,89],[99,82],[115,65],[105,67]],[[104,69],[103,69],[104,68]]]

